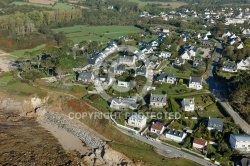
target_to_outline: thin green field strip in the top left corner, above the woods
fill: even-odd
[[[51,8],[51,9],[72,9],[74,8],[73,6],[67,5],[65,3],[56,3],[55,5],[46,5],[46,4],[36,4],[36,3],[29,3],[29,2],[12,2],[11,4],[14,5],[32,5],[32,6],[37,6],[37,7],[46,7],[46,8]]]

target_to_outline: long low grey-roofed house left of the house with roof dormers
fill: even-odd
[[[131,109],[135,110],[138,107],[138,104],[136,103],[136,99],[134,98],[113,98],[110,104],[110,108],[115,110],[121,110],[121,109]]]

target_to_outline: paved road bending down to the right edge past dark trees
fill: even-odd
[[[211,70],[209,72],[208,75],[208,79],[206,80],[207,83],[209,84],[209,88],[210,88],[210,92],[213,93],[219,102],[221,102],[221,104],[223,105],[223,107],[226,109],[226,111],[232,116],[232,118],[234,119],[234,122],[238,125],[241,126],[241,128],[248,134],[250,134],[250,125],[243,120],[238,113],[236,113],[233,108],[229,105],[229,103],[227,102],[227,100],[223,99],[220,96],[220,92],[225,91],[226,87],[220,83],[218,83],[215,79],[214,79],[214,75],[216,73],[216,65],[221,57],[221,53],[223,50],[223,45],[220,42],[217,42],[217,50],[216,50],[216,54],[214,56],[213,62],[212,62],[212,66],[211,66]]]

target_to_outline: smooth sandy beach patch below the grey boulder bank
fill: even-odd
[[[38,118],[37,121],[41,124],[43,128],[50,131],[51,134],[53,134],[53,136],[58,139],[58,141],[65,150],[76,150],[81,154],[85,154],[88,152],[88,148],[84,146],[84,144],[78,137],[62,129],[59,129],[57,126],[45,123],[42,118]]]

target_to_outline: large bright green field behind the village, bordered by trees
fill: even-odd
[[[110,41],[121,36],[141,32],[141,29],[134,26],[83,26],[53,29],[54,32],[64,32],[66,37],[74,43],[86,41]]]

